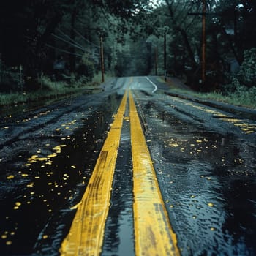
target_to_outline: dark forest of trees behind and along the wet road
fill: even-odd
[[[206,81],[202,17],[206,6]],[[0,92],[78,89],[99,77],[167,75],[197,91],[256,95],[256,1],[0,3]]]

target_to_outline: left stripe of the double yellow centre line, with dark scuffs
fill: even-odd
[[[69,233],[61,244],[61,255],[99,255],[101,252],[126,102],[127,92],[99,154],[86,192],[78,204]]]

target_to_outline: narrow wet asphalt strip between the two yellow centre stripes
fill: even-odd
[[[132,153],[127,114],[124,120],[126,122],[121,132],[102,256],[134,255]]]

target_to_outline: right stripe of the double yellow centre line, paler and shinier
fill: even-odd
[[[180,255],[140,119],[129,91],[136,255]]]

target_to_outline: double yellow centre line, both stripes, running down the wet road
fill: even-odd
[[[61,255],[99,255],[102,250],[126,105],[127,91],[99,154],[86,192],[78,204],[69,233],[61,244]],[[179,255],[176,235],[170,226],[130,91],[129,117],[134,176],[135,254]]]

